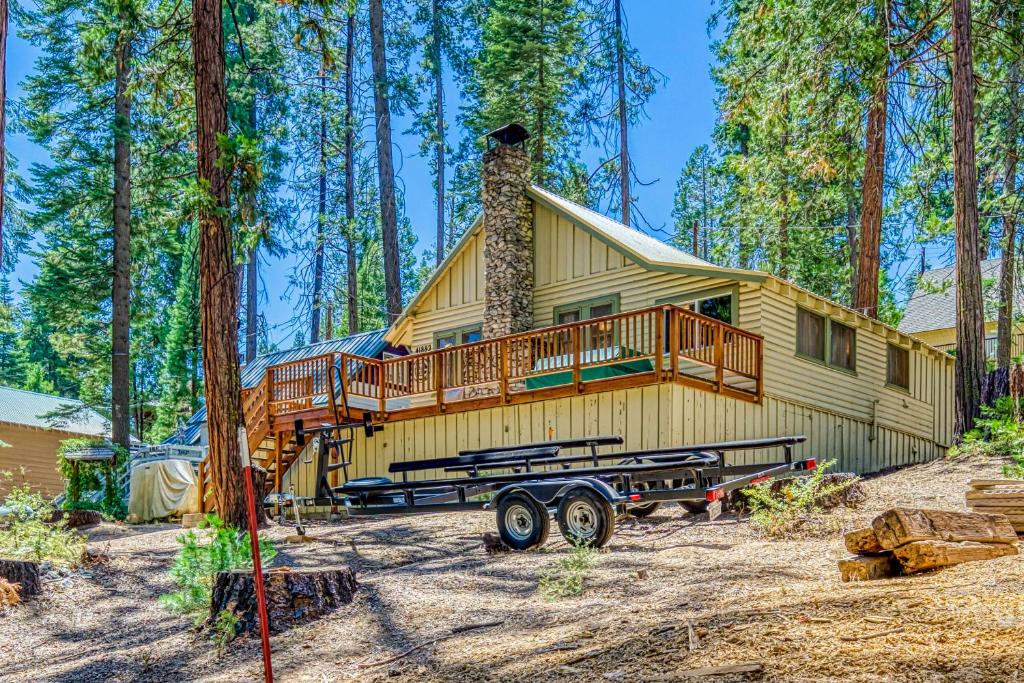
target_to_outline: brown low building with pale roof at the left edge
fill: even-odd
[[[60,441],[109,434],[109,421],[80,400],[0,386],[0,441],[10,446],[0,447],[0,471],[13,474],[15,484],[57,496],[63,492],[56,469]],[[9,487],[0,480],[0,498]]]

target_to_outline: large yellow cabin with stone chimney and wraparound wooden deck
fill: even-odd
[[[244,389],[272,488],[313,493],[297,421],[365,414],[383,429],[356,435],[350,477],[602,434],[630,450],[806,434],[797,455],[854,472],[946,453],[949,354],[531,184],[524,140],[517,126],[490,134],[481,216],[385,331],[396,354],[307,355]]]

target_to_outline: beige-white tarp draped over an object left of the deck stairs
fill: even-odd
[[[145,522],[199,512],[199,484],[187,460],[159,460],[131,468],[128,514]]]

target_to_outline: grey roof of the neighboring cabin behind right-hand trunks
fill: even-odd
[[[998,279],[1002,260],[990,258],[981,262],[981,278],[983,281]],[[997,303],[998,289],[987,287],[984,290],[985,319],[995,319],[994,311]],[[1014,309],[1021,310],[1024,297],[1017,292],[1014,297]],[[928,332],[930,330],[946,330],[956,327],[956,268],[948,266],[926,270],[914,289],[913,295],[906,302],[906,310],[899,323],[899,331],[907,334]]]

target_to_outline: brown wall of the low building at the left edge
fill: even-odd
[[[0,472],[13,474],[15,485],[29,483],[45,496],[57,496],[63,492],[63,478],[56,469],[57,450],[60,441],[79,436],[81,434],[0,423],[0,441],[11,445],[0,447]],[[24,475],[22,468],[25,468]],[[0,479],[0,499],[9,489],[10,482]]]

